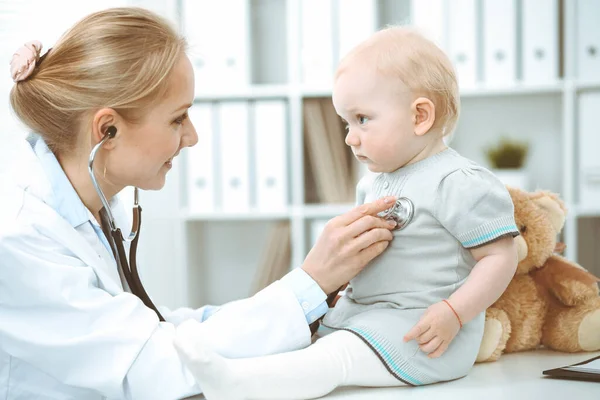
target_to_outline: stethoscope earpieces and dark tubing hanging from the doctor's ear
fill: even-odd
[[[100,210],[99,222],[102,227],[102,231],[104,232],[104,235],[106,236],[106,239],[108,240],[108,243],[112,249],[113,255],[115,256],[117,266],[121,271],[123,271],[123,275],[125,276],[125,280],[131,289],[131,293],[139,297],[146,307],[154,310],[160,321],[164,321],[165,319],[144,290],[144,286],[142,285],[142,281],[140,280],[137,269],[137,244],[140,237],[140,226],[142,224],[142,208],[139,204],[138,188],[134,188],[133,192],[133,223],[131,227],[131,233],[127,238],[124,238],[121,229],[119,229],[115,223],[115,218],[110,205],[108,204],[102,189],[100,189],[100,185],[98,185],[96,175],[94,174],[94,161],[96,159],[96,153],[104,145],[104,143],[110,139],[113,139],[116,135],[117,128],[114,126],[109,126],[102,140],[100,140],[100,142],[92,149],[90,158],[88,160],[88,172],[103,205],[102,209]],[[129,248],[129,262],[127,261],[127,255],[125,254],[125,242],[131,243]]]

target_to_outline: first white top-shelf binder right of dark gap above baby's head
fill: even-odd
[[[411,0],[411,25],[442,50],[448,50],[448,0]]]

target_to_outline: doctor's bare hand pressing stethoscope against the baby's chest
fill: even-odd
[[[317,243],[306,256],[302,269],[326,294],[354,278],[392,240],[389,223],[377,214],[390,208],[396,201],[384,197],[331,219]]]

